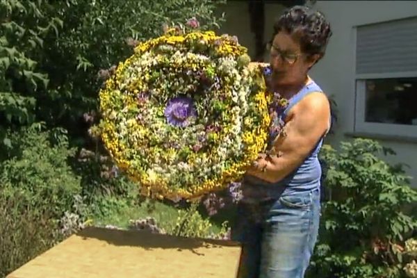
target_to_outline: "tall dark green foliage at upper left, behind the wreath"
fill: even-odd
[[[215,28],[222,18],[213,11],[223,2],[0,1],[0,123],[44,121],[83,138],[83,114],[97,108],[99,70],[159,35],[164,23],[195,16]]]

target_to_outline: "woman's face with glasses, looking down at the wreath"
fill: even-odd
[[[270,45],[270,65],[275,85],[297,85],[304,82],[315,60],[317,58],[303,54],[300,43],[285,31],[277,33]]]

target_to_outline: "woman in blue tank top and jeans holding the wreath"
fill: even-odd
[[[318,235],[318,152],[329,131],[330,107],[308,72],[325,54],[332,32],[321,13],[305,6],[286,10],[274,31],[269,86],[288,99],[278,115],[285,135],[272,143],[275,153],[259,156],[245,175],[232,231],[243,245],[239,278],[304,277]]]

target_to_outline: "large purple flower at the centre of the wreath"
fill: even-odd
[[[173,126],[188,126],[190,124],[190,118],[197,117],[193,99],[189,97],[176,97],[171,99],[165,108],[165,117]]]

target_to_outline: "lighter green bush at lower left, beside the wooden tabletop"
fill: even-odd
[[[12,145],[0,163],[0,277],[63,238],[60,220],[81,192],[67,163],[74,149],[62,131],[35,125],[7,136]]]

